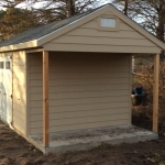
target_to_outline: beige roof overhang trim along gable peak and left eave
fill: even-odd
[[[122,14],[118,9],[111,7],[110,4],[103,6],[102,8],[38,38],[35,41],[30,41],[26,43],[20,43],[15,45],[9,45],[0,47],[0,52],[8,52],[8,51],[18,51],[18,50],[25,50],[25,48],[34,48],[44,46],[44,44],[48,43],[50,41],[59,37],[61,35],[82,25],[84,23],[89,22],[90,20],[103,14],[105,12],[111,11],[113,14],[116,14],[119,19],[121,19],[123,22],[132,26],[134,30],[136,30],[139,33],[144,35],[146,38],[152,41],[155,45],[157,45],[157,48],[165,50],[165,44],[156,38],[154,35],[148,33],[146,30],[144,30],[142,26],[140,26],[138,23],[129,19],[127,15]]]

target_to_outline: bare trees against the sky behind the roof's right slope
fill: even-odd
[[[113,4],[162,42],[165,42],[165,0],[113,0]],[[163,52],[161,62],[164,62]]]

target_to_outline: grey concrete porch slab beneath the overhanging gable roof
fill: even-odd
[[[41,135],[31,136],[42,147]],[[154,132],[136,128],[134,125],[119,125],[100,129],[88,129],[53,133],[50,135],[50,147],[44,147],[44,153],[63,153],[67,151],[89,150],[97,147],[101,143],[120,144],[136,143],[148,140],[156,140],[158,135]]]

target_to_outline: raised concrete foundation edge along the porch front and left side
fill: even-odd
[[[40,151],[42,151],[44,154],[47,153],[65,153],[68,151],[87,151],[90,148],[95,148],[98,147],[101,144],[111,144],[111,145],[116,145],[116,144],[121,144],[121,143],[138,143],[138,142],[145,142],[145,141],[151,141],[151,140],[157,140],[158,139],[158,134],[152,132],[152,134],[145,134],[145,135],[129,135],[129,136],[119,136],[117,139],[113,140],[106,140],[106,138],[100,138],[100,140],[97,141],[90,141],[88,143],[78,143],[78,144],[72,144],[72,145],[61,145],[61,146],[51,146],[51,147],[44,147],[42,146],[40,143],[37,143],[36,141],[34,141],[31,138],[25,136],[23,133],[21,133],[19,130],[14,129],[13,127],[10,127],[13,131],[15,131],[18,134],[20,134],[21,136],[23,136],[28,142],[30,142],[31,144],[33,144],[36,148],[38,148]]]

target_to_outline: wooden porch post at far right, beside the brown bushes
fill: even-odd
[[[160,54],[154,56],[154,87],[153,87],[153,131],[158,132],[158,77]]]

